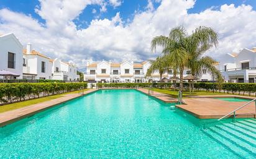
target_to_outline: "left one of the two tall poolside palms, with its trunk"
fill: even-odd
[[[188,52],[186,51],[187,33],[183,27],[171,29],[168,37],[159,36],[153,38],[151,42],[152,52],[156,51],[157,45],[163,47],[168,64],[175,70],[180,71],[180,90],[183,90],[183,71],[188,62]]]

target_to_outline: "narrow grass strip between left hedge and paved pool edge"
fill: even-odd
[[[88,90],[88,89],[85,89],[85,90]],[[56,98],[63,97],[63,95],[70,94],[70,93],[78,93],[78,90],[76,90],[74,92],[68,92],[68,93],[62,93],[62,94],[58,94],[58,95],[51,95],[48,97],[37,98],[34,100],[21,101],[21,102],[12,103],[9,105],[2,105],[2,106],[0,106],[0,113],[3,113],[5,111],[10,111],[10,110],[16,110],[18,108],[22,108],[22,107],[29,106],[29,105],[34,105],[37,103],[42,103],[43,101],[54,100]]]

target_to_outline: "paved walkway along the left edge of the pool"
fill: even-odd
[[[96,89],[90,89],[85,91],[83,95],[87,95],[95,91]],[[35,113],[39,113],[40,111],[47,110],[48,108],[52,108],[53,106],[65,103],[66,101],[81,97],[83,95],[78,93],[70,93],[54,100],[44,101],[42,103],[37,103],[35,105],[19,108],[17,110],[11,110],[6,111],[4,113],[0,113],[0,127],[6,126],[7,124],[11,124],[12,122],[18,121],[19,119],[32,116]]]

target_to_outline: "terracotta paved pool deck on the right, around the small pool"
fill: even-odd
[[[149,90],[145,88],[137,89],[140,92],[145,94],[149,93]],[[159,100],[165,101],[167,103],[176,103],[178,100],[172,98],[170,95],[160,93],[160,92],[153,92],[150,96],[158,98]],[[215,99],[216,97],[239,97],[239,98],[247,98],[253,100],[255,97],[247,97],[247,96],[240,96],[240,95],[201,95],[201,96],[190,96],[188,98],[183,98],[184,104],[183,105],[176,105],[176,108],[180,110],[186,111],[196,118],[199,119],[219,119],[222,116],[230,113],[231,111],[239,108],[240,106],[247,103],[247,101],[239,101],[239,102],[232,102],[232,101],[224,101]],[[245,106],[241,110],[236,112],[235,118],[255,118],[255,102],[250,103],[249,105]],[[232,115],[229,116],[232,118]]]

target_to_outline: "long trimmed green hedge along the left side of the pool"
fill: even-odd
[[[87,83],[45,82],[0,84],[0,102],[9,103],[12,101],[46,97],[48,95],[78,90],[80,87],[87,88]]]

